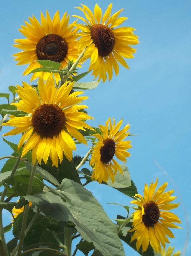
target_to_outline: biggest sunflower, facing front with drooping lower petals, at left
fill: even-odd
[[[77,97],[83,93],[82,91],[76,91],[69,95],[72,85],[73,82],[69,84],[66,82],[57,89],[52,73],[46,83],[44,83],[43,74],[41,74],[38,82],[40,98],[36,90],[27,83],[23,82],[23,87],[17,85],[18,90],[16,92],[21,100],[18,103],[12,103],[12,105],[28,114],[23,117],[12,118],[2,125],[16,127],[3,136],[24,132],[18,144],[19,150],[27,140],[21,157],[33,149],[33,163],[37,159],[40,164],[43,159],[46,164],[50,155],[52,165],[57,167],[58,158],[60,162],[63,159],[63,152],[68,160],[72,160],[72,150],[76,150],[76,145],[71,136],[87,145],[86,140],[77,129],[94,130],[83,122],[92,117],[79,111],[88,108],[87,106],[75,104],[88,97]]]

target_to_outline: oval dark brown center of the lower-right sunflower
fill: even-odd
[[[145,226],[152,227],[159,220],[160,210],[158,205],[153,201],[148,201],[143,204],[144,207],[144,215],[143,222]]]

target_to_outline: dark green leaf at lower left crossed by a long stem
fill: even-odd
[[[44,188],[40,180],[36,179],[35,177],[43,181],[43,178],[40,176],[40,174],[35,174],[31,194],[38,193]],[[14,192],[16,192],[19,196],[23,196],[27,193],[29,187],[29,180],[30,175],[19,174],[4,180],[4,186],[9,187],[11,185],[11,188],[14,190]]]

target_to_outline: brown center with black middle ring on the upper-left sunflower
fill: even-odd
[[[39,60],[61,62],[66,57],[67,52],[66,41],[56,34],[42,37],[36,45],[36,54]]]

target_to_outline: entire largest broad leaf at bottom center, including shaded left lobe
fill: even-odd
[[[72,180],[64,179],[57,191],[66,197],[66,202],[48,191],[24,198],[36,203],[46,216],[51,216],[57,221],[73,222],[82,238],[93,242],[104,256],[125,255],[115,224],[86,188]]]

